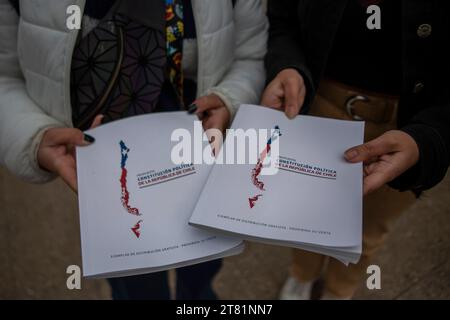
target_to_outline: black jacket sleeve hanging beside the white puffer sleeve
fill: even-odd
[[[315,96],[316,88],[311,71],[307,67],[305,53],[300,46],[298,6],[293,4],[298,4],[298,1],[269,1],[270,30],[266,56],[267,81],[272,81],[284,69],[297,69],[305,81],[307,91],[305,105],[309,105]]]

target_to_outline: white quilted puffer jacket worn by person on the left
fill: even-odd
[[[70,64],[77,30],[66,9],[85,0],[0,0],[0,164],[30,182],[52,175],[36,160],[46,129],[71,127]],[[198,96],[216,93],[234,113],[264,86],[267,19],[262,0],[192,0]]]

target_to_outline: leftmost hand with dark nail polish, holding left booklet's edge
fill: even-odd
[[[97,116],[91,129],[98,127],[103,116]],[[95,139],[81,130],[73,128],[54,128],[44,133],[39,145],[37,159],[39,166],[58,174],[67,185],[77,192],[76,146],[87,146]]]

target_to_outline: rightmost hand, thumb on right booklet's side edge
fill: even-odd
[[[345,159],[364,163],[364,195],[367,195],[413,167],[419,161],[419,147],[409,134],[393,130],[347,150]]]

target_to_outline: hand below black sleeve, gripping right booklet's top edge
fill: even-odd
[[[305,81],[296,69],[284,69],[264,90],[261,104],[284,110],[289,119],[295,118],[303,107],[306,96]]]

